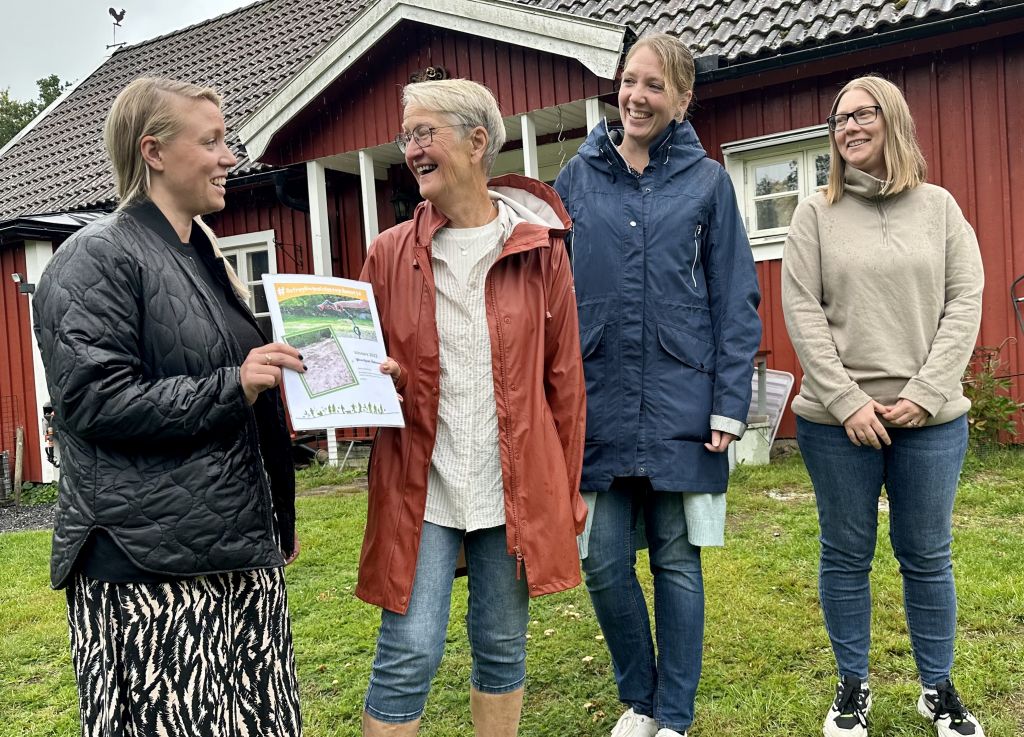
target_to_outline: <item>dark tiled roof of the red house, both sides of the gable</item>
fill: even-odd
[[[224,93],[228,124],[245,121],[373,0],[263,0],[128,46],[75,88],[0,157],[0,222],[110,206],[114,178],[103,149],[103,118],[135,77],[157,75]],[[694,55],[732,61],[1024,0],[515,0],[535,7],[665,31]],[[258,171],[239,155],[232,176]]]

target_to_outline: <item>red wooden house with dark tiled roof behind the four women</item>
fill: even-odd
[[[224,94],[239,164],[227,209],[209,220],[244,278],[354,276],[367,243],[415,196],[391,143],[411,76],[489,86],[509,134],[496,173],[550,181],[591,126],[617,117],[625,50],[652,31],[680,36],[697,57],[692,121],[739,194],[770,366],[799,375],[779,304],[788,216],[821,183],[836,91],[870,72],[904,89],[930,179],[978,232],[980,343],[1016,335],[1008,289],[1024,272],[1024,137],[1013,123],[1024,119],[1014,94],[1024,87],[1024,0],[264,0],[119,50],[0,149],[0,447],[24,427],[26,478],[50,477],[30,298],[9,275],[34,283],[69,233],[115,206],[100,129],[134,77]],[[258,288],[253,307],[263,307]],[[1017,374],[1024,349],[1009,359]],[[780,436],[793,429],[786,417]]]

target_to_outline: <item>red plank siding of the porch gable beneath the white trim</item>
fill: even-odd
[[[387,143],[401,124],[401,88],[427,67],[486,85],[506,117],[613,91],[577,59],[402,23],[285,126],[262,161],[295,164]]]

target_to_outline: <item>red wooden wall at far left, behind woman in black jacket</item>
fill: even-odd
[[[22,244],[0,248],[0,449],[10,451],[10,471],[14,473],[14,428],[25,428],[26,481],[42,476],[39,453],[41,408],[36,406],[36,383],[32,366],[32,343],[29,329],[29,297],[17,291],[10,274],[25,275],[25,248]]]

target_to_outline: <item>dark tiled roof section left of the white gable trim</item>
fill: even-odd
[[[263,0],[127,46],[0,157],[0,221],[110,205],[114,175],[102,142],[117,93],[143,75],[210,85],[224,118],[245,120],[344,28],[366,0]],[[231,131],[232,174],[258,169]]]

